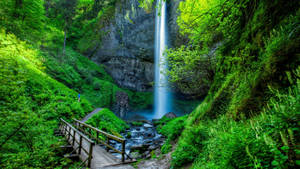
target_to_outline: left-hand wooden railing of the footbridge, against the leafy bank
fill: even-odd
[[[87,167],[91,167],[91,161],[93,158],[93,147],[95,145],[95,142],[86,137],[82,132],[74,128],[70,123],[66,122],[64,119],[61,118],[60,120],[60,130],[66,136],[67,141],[70,142],[70,144],[73,147],[76,147],[75,143],[78,145],[77,148],[74,149],[74,151],[78,151],[79,155],[82,152],[84,152],[87,155],[87,158],[83,161],[82,164],[85,164],[87,162]],[[88,149],[82,145],[83,139],[89,143],[89,146],[87,146],[89,147]]]

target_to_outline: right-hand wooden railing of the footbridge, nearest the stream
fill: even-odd
[[[75,121],[75,126],[78,128],[78,130],[80,130],[81,132],[83,132],[84,134],[90,136],[90,138],[95,139],[96,143],[101,143],[103,145],[106,146],[106,151],[108,151],[109,149],[112,149],[113,151],[119,153],[122,155],[122,162],[125,162],[125,155],[130,158],[132,160],[132,158],[126,154],[125,152],[125,144],[126,144],[126,140],[117,136],[114,136],[112,134],[109,134],[105,131],[99,130],[91,125],[88,125],[84,122],[81,122],[79,120],[74,119]],[[100,139],[99,136],[104,136],[104,140]],[[118,150],[116,148],[114,148],[113,146],[110,145],[110,140],[115,140],[119,143],[122,144],[122,149]]]

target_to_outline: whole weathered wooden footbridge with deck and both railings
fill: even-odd
[[[125,152],[125,139],[106,133],[76,119],[74,119],[74,125],[63,119],[60,120],[60,132],[66,137],[69,146],[73,148],[73,151],[67,156],[78,156],[82,161],[80,167],[87,166],[98,169],[120,167],[122,165],[122,169],[133,169],[132,166],[126,165],[134,162],[134,160]],[[121,150],[110,145],[110,140],[121,143]],[[114,157],[109,153],[109,150],[121,154],[122,159]]]

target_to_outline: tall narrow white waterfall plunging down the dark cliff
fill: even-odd
[[[172,96],[169,91],[165,71],[168,69],[164,51],[167,48],[167,4],[157,0],[155,17],[155,86],[154,86],[154,118],[161,118],[171,111]]]

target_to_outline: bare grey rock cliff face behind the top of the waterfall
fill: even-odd
[[[172,0],[169,8],[171,42],[178,44],[177,6]],[[152,90],[154,81],[155,8],[146,12],[138,0],[120,0],[109,24],[104,28],[101,45],[90,58],[104,64],[115,82],[136,91]],[[175,43],[171,43],[171,46]],[[175,44],[175,45],[176,45]]]

